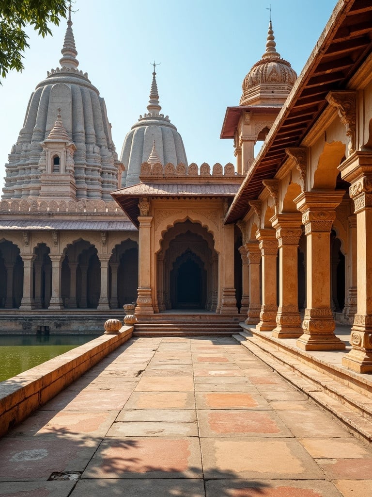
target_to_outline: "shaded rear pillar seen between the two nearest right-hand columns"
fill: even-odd
[[[344,309],[345,320],[354,321],[357,312],[357,216],[349,216],[348,290]]]

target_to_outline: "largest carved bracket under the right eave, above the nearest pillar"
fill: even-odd
[[[348,155],[350,156],[356,151],[357,92],[330,91],[325,99],[336,107],[340,121],[346,127],[346,135],[349,138]]]

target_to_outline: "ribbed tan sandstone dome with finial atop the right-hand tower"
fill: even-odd
[[[297,74],[291,68],[291,64],[280,57],[275,46],[270,20],[266,51],[243,81],[240,105],[284,103],[287,98]]]

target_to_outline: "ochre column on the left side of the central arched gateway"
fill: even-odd
[[[150,272],[152,216],[139,216],[138,221],[138,297],[135,314],[154,314]]]

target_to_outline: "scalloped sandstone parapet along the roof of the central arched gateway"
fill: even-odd
[[[175,166],[174,164],[168,163],[163,166],[160,163],[150,164],[149,162],[144,162],[141,164],[141,171],[139,179],[142,182],[154,182],[154,181],[192,181],[192,180],[223,180],[229,179],[229,182],[233,178],[242,179],[243,176],[236,173],[234,165],[231,163],[226,164],[223,167],[221,164],[216,163],[212,168],[207,163],[203,163],[200,167],[195,163],[186,166],[183,163]],[[235,181],[234,181],[235,182]]]

